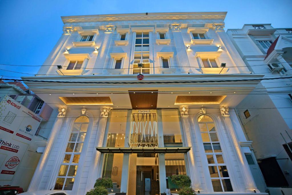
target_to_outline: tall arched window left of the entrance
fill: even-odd
[[[87,116],[80,116],[74,121],[54,189],[72,190],[88,123]]]

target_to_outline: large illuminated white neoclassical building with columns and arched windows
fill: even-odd
[[[111,177],[110,192],[165,194],[178,188],[172,174],[187,174],[197,193],[260,193],[234,108],[263,75],[250,74],[225,15],[62,17],[64,33],[25,77],[59,111],[29,191],[85,194]]]

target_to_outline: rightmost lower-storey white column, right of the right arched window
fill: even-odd
[[[229,133],[232,143],[235,147],[235,152],[239,160],[239,169],[242,174],[241,176],[245,182],[245,191],[253,193],[253,190],[256,190],[256,192],[259,193],[260,191],[257,189],[256,184],[253,180],[251,170],[249,169],[249,165],[245,158],[244,152],[241,150],[241,146],[239,144],[232,122],[230,120],[229,108],[222,106],[220,107],[220,112],[225,122],[227,132]]]

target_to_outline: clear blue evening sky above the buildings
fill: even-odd
[[[292,28],[291,0],[0,0],[0,64],[42,65],[62,34],[60,16],[144,12],[227,11],[225,30],[271,23]],[[37,73],[39,66],[0,65],[5,78]]]

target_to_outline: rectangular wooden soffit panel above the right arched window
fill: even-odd
[[[174,105],[220,104],[226,96],[176,96]]]

